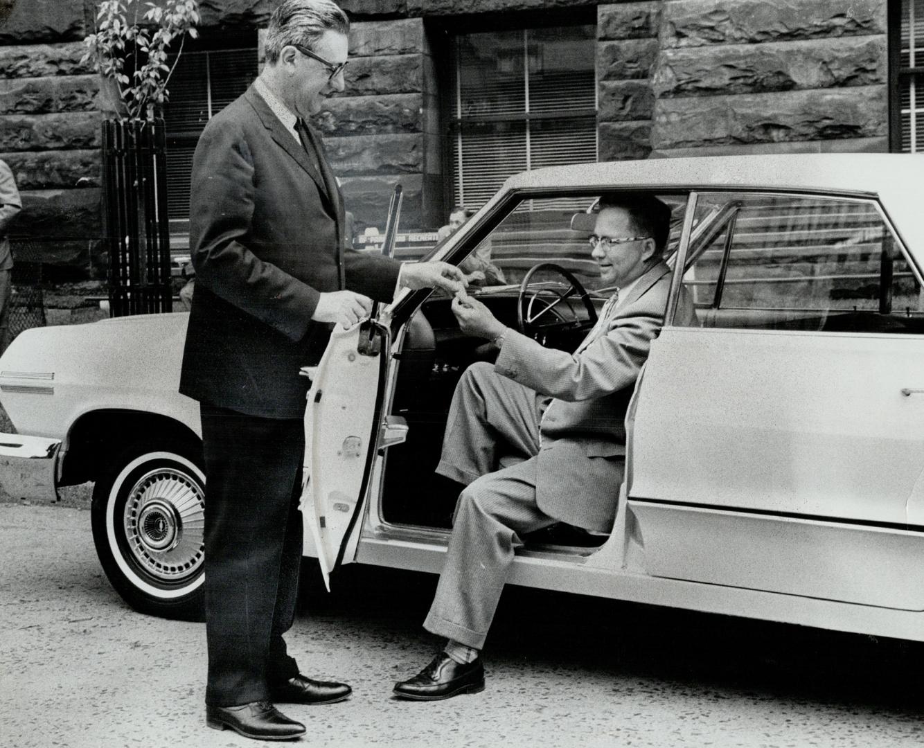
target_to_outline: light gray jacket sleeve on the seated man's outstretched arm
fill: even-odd
[[[632,385],[663,326],[656,305],[632,304],[617,313],[609,332],[579,354],[546,348],[519,332],[505,335],[494,364],[499,374],[559,400],[575,403]]]

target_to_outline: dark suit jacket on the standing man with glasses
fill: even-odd
[[[180,392],[251,416],[298,418],[331,326],[322,292],[390,300],[399,263],[342,247],[343,199],[251,86],[202,132],[192,165],[189,246],[196,291]],[[339,192],[339,190],[338,190]]]

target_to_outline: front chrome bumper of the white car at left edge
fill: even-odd
[[[57,501],[61,440],[0,434],[0,486],[13,499]]]

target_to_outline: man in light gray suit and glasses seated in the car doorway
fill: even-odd
[[[466,488],[424,628],[449,641],[418,675],[395,685],[409,699],[484,688],[480,649],[514,549],[556,522],[609,531],[626,454],[626,406],[663,325],[671,271],[662,253],[670,209],[653,197],[604,199],[590,236],[602,284],[619,291],[577,352],[544,348],[496,320],[464,292],[453,311],[464,332],[492,338],[492,365],[469,367],[456,387],[437,473]],[[692,318],[682,296],[678,319]],[[498,458],[523,462],[498,470]]]

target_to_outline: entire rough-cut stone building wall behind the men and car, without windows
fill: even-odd
[[[279,0],[201,0],[205,30],[265,26]],[[94,0],[0,7],[0,158],[25,200],[20,252],[99,275],[97,80],[79,63]],[[346,91],[319,116],[359,223],[392,187],[406,226],[443,223],[436,71],[424,19],[597,6],[601,160],[883,151],[887,0],[342,0]],[[11,8],[11,10],[10,10]],[[2,11],[9,10],[4,18]],[[524,18],[526,18],[525,16]],[[23,258],[20,258],[23,259]]]

